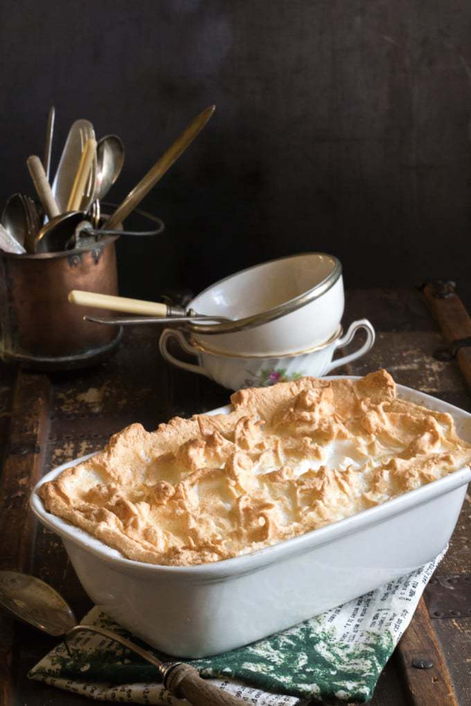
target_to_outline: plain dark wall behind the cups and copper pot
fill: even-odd
[[[4,0],[0,196],[31,191],[56,106],[127,150],[125,196],[208,104],[144,202],[167,224],[119,245],[121,292],[193,291],[321,250],[347,287],[453,277],[471,300],[466,0]]]

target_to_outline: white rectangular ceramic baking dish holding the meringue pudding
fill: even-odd
[[[449,412],[471,442],[471,414],[398,385],[398,394]],[[230,407],[213,412],[227,413]],[[90,598],[150,645],[177,657],[205,657],[246,645],[407,574],[439,554],[455,527],[471,479],[468,467],[333,525],[253,554],[202,566],[130,561],[44,509]]]

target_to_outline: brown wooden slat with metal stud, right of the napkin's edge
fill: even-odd
[[[412,706],[459,706],[439,641],[422,598],[395,652],[404,671]],[[431,669],[417,669],[415,659],[430,660]]]

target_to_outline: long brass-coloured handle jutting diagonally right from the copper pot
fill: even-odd
[[[205,124],[213,115],[214,111],[215,105],[210,105],[210,107],[203,110],[203,112],[199,114],[191,124],[189,124],[189,126],[181,133],[179,138],[175,140],[173,145],[169,147],[167,152],[160,157],[160,160],[158,160],[152,169],[145,174],[145,177],[143,177],[134,189],[129,192],[123,203],[121,203],[117,210],[115,210],[109,217],[106,225],[107,229],[116,228],[119,223],[122,223],[124,219],[129,216],[138,203],[141,203],[144,196],[146,196],[150,189],[157,184],[159,179],[162,179],[165,172],[167,172],[167,169],[172,167],[172,164],[186,150],[189,144],[193,142],[198,133],[201,132]]]

